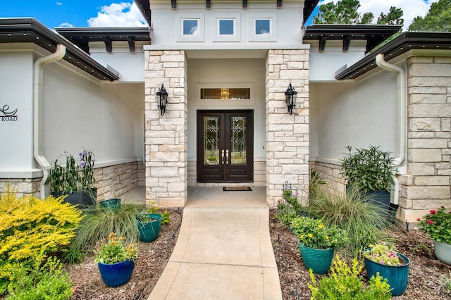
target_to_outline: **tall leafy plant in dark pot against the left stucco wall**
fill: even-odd
[[[66,153],[66,165],[58,158],[49,170],[50,192],[55,196],[67,195],[64,202],[70,204],[94,204],[97,198],[94,178],[94,154],[83,149],[78,160]]]

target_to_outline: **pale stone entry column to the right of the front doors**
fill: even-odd
[[[297,91],[288,114],[285,90]],[[285,182],[309,190],[309,50],[269,50],[266,55],[266,201],[275,207]]]

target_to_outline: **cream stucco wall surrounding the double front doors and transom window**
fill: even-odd
[[[264,77],[264,59],[188,60],[188,161],[196,161],[197,157],[197,111],[207,109],[253,110],[254,161],[265,161]],[[251,99],[200,99],[200,89],[209,87],[249,87],[251,89]]]

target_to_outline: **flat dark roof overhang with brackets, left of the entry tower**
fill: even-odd
[[[63,37],[89,53],[89,42],[104,42],[106,51],[113,51],[111,42],[128,42],[130,52],[135,52],[135,42],[150,42],[149,27],[56,27]]]

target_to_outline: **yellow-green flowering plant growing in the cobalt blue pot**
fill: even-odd
[[[106,242],[94,250],[96,263],[121,263],[122,261],[135,261],[138,256],[137,244],[125,244],[125,237],[118,237],[111,232]]]

